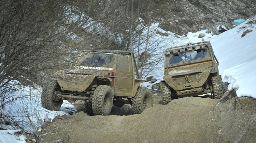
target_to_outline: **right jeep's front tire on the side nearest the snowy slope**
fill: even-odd
[[[220,99],[223,95],[222,82],[220,76],[212,77],[213,99]]]

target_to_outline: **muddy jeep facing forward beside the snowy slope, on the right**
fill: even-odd
[[[211,93],[220,99],[223,93],[219,62],[210,42],[199,42],[165,50],[163,104],[172,99]]]

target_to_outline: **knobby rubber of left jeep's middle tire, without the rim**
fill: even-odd
[[[105,96],[105,94],[107,94],[107,92],[110,92],[110,107],[108,110],[104,110],[103,107],[103,101],[104,98],[102,98],[103,96]],[[113,91],[111,89],[111,87],[107,86],[107,85],[99,85],[97,86],[97,88],[94,91],[93,97],[92,97],[92,113],[94,115],[109,115],[111,110],[112,110],[112,106],[113,106]]]

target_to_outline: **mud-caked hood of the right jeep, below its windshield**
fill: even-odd
[[[171,75],[171,76],[186,75],[186,74],[191,74],[196,72],[207,72],[207,71],[211,71],[212,69],[213,67],[210,65],[196,65],[196,66],[191,66],[186,68],[173,69],[169,71],[167,75]]]

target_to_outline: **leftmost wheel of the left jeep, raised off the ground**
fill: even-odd
[[[57,111],[60,109],[63,103],[63,100],[58,99],[56,101],[55,95],[54,95],[54,93],[58,90],[60,89],[58,87],[57,82],[47,81],[43,84],[41,102],[44,108],[48,110],[54,110],[54,111]]]

